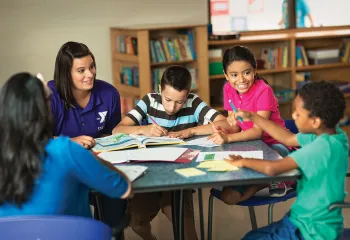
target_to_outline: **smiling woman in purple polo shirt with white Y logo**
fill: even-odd
[[[95,57],[82,43],[67,42],[60,48],[55,63],[51,111],[54,136],[64,135],[85,148],[94,138],[112,133],[120,122],[120,96],[111,84],[97,80]],[[124,216],[126,200],[102,196],[104,221],[116,226]]]

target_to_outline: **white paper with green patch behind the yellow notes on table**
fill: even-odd
[[[224,160],[224,158],[229,158],[229,155],[240,155],[244,158],[264,158],[263,151],[200,152],[196,162],[203,162],[205,160]]]

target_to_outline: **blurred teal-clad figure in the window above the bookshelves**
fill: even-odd
[[[288,28],[288,0],[284,0],[282,3],[282,15],[284,19],[284,25]],[[296,1],[296,26],[297,28],[303,28],[305,26],[305,17],[310,14],[310,8],[306,0],[297,0]]]

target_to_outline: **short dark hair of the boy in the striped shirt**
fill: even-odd
[[[179,92],[182,90],[190,91],[191,82],[192,77],[190,71],[185,67],[175,65],[168,67],[164,71],[160,86],[164,89],[166,85],[169,85]]]

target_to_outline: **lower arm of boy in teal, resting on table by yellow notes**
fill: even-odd
[[[291,157],[285,157],[281,160],[263,160],[253,158],[242,158],[241,156],[231,155],[230,163],[236,167],[250,168],[254,171],[261,172],[269,176],[275,176],[289,170],[297,169],[298,164]]]

